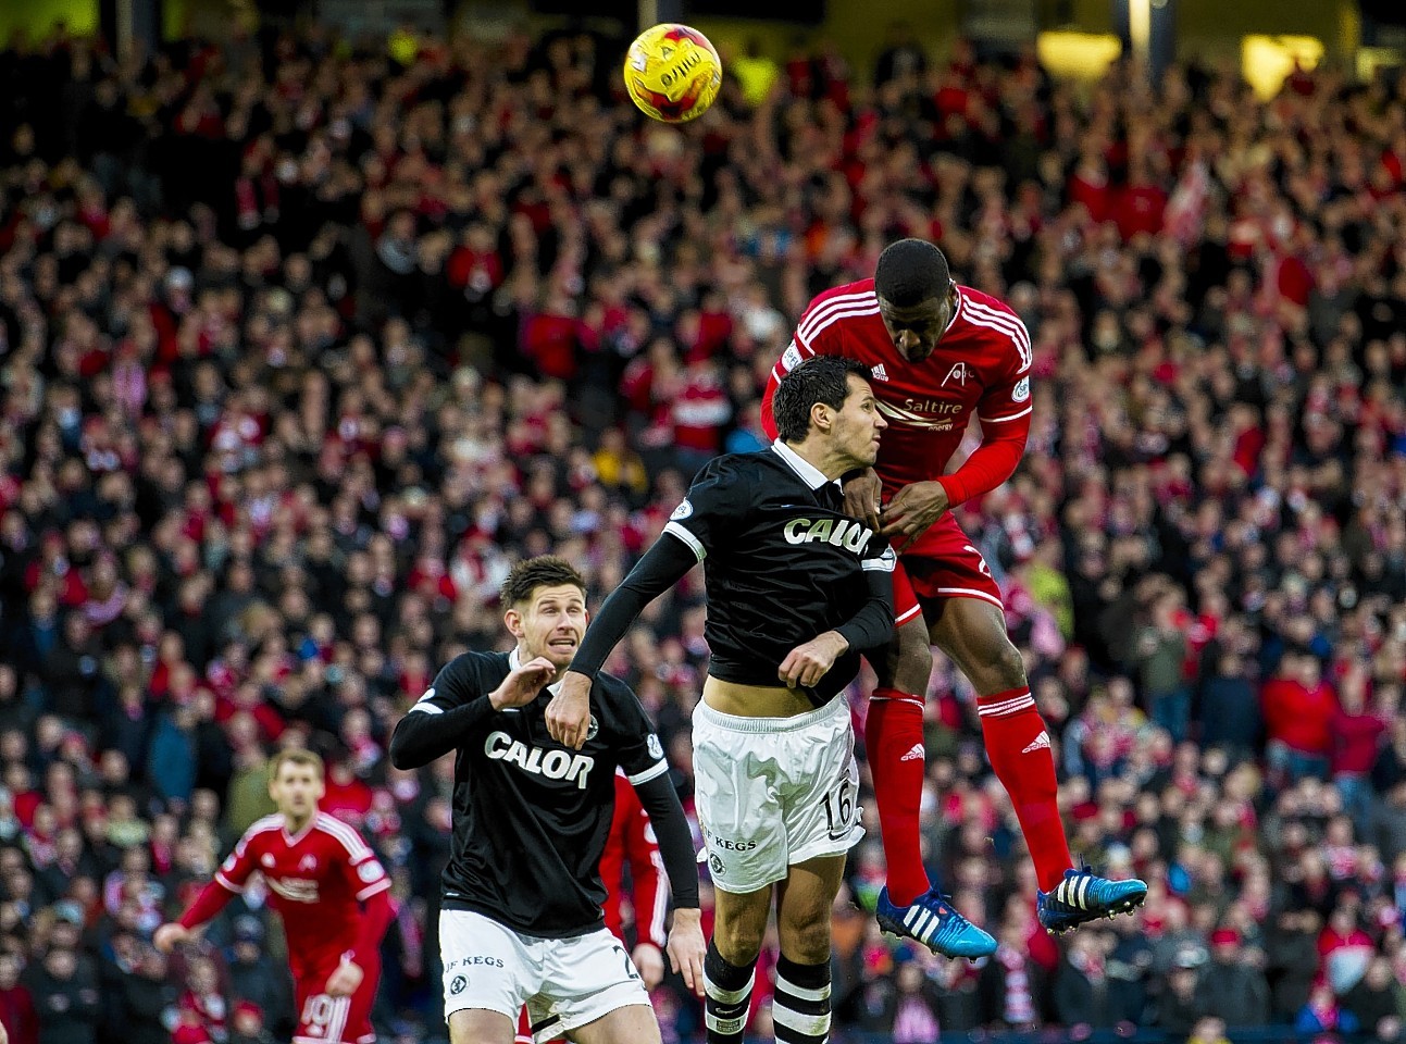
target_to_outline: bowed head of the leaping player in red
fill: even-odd
[[[948,259],[924,239],[900,239],[884,248],[875,269],[875,295],[894,348],[910,363],[932,355],[957,307]]]

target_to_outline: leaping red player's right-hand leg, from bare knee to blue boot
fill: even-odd
[[[1140,905],[1147,896],[1142,881],[1108,881],[1074,867],[1059,813],[1050,736],[1031,696],[1021,653],[1005,633],[1001,608],[979,598],[943,599],[929,633],[977,692],[987,757],[1011,795],[1035,862],[1040,923],[1050,931],[1067,931]]]

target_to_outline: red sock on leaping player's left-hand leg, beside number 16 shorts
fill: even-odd
[[[889,864],[889,898],[907,906],[928,891],[918,840],[918,809],[928,760],[922,749],[922,699],[891,688],[869,696],[865,751],[879,802],[879,832]]]

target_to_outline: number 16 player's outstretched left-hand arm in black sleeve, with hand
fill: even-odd
[[[581,750],[591,726],[591,682],[600,673],[610,650],[630,630],[644,606],[683,580],[696,564],[697,556],[688,545],[664,535],[606,598],[600,612],[586,628],[571,670],[561,680],[561,688],[547,704],[547,733],[554,740]]]

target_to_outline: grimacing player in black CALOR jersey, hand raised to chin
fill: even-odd
[[[543,712],[586,626],[585,583],[574,567],[548,556],[519,563],[503,605],[517,647],[456,657],[391,737],[398,768],[456,754],[440,916],[450,1040],[512,1040],[526,1003],[546,1036],[610,1019],[602,1027],[609,1038],[658,1041],[638,974],[605,927],[600,855],[619,765],[669,874],[666,950],[688,985],[700,988],[697,867],[664,750],[638,698],[609,674],[592,684],[579,750],[547,733]]]

